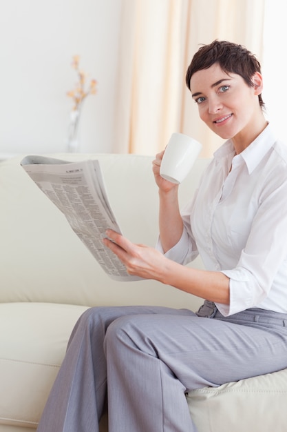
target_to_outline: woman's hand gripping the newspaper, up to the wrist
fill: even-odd
[[[144,244],[134,244],[114,230],[106,231],[103,243],[126,266],[129,275],[164,282],[164,268],[169,260],[159,251]]]

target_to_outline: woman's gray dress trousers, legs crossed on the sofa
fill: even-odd
[[[287,368],[287,315],[213,306],[87,310],[37,431],[98,432],[107,400],[109,432],[195,432],[187,391]]]

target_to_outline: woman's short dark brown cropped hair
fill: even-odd
[[[209,45],[201,46],[195,52],[185,78],[189,90],[191,90],[192,75],[198,70],[210,68],[214,63],[218,63],[226,73],[240,75],[249,87],[254,87],[252,77],[255,72],[261,73],[259,61],[244,46],[216,39]],[[260,94],[258,98],[259,105],[263,108],[262,95]]]

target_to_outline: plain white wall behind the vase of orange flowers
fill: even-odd
[[[9,0],[0,5],[0,154],[67,150],[73,55],[98,81],[80,151],[109,153],[121,0]]]

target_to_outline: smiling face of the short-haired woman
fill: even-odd
[[[240,132],[251,132],[262,118],[258,95],[262,92],[262,77],[253,77],[255,87],[249,87],[235,73],[227,74],[218,63],[198,70],[191,77],[191,94],[198,104],[200,118],[224,139]]]

